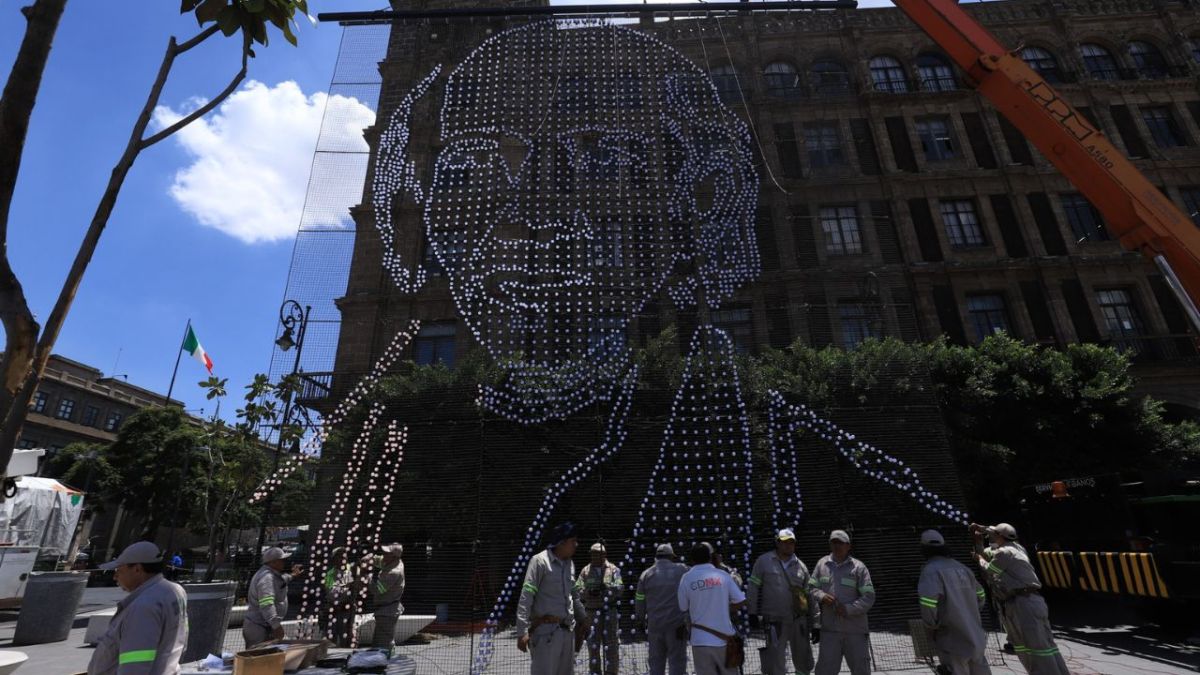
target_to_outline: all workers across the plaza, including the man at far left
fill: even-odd
[[[998,603],[1004,631],[1031,675],[1068,675],[1050,631],[1042,584],[1016,530],[1008,524],[972,525],[976,560],[991,597]],[[646,632],[650,675],[684,675],[691,645],[697,675],[733,675],[740,665],[742,639],[734,617],[742,608],[752,628],[761,628],[763,675],[787,675],[788,655],[798,674],[834,675],[842,663],[852,675],[871,670],[868,614],[875,604],[871,573],[851,556],[844,530],[829,534],[829,555],[810,571],[796,556],[796,534],[780,530],[774,550],[757,557],[745,584],[724,565],[708,543],[695,544],[690,566],[676,561],[671,544],[655,551],[654,565],[637,580],[635,622]],[[570,675],[575,655],[588,646],[592,675],[618,675],[620,667],[620,569],[608,562],[602,543],[590,549],[590,562],[575,574],[578,536],[574,526],[557,527],[550,545],[526,572],[517,604],[517,649],[530,653],[532,675]],[[976,573],[953,560],[942,534],[920,536],[925,566],[917,585],[920,617],[940,659],[953,675],[989,674],[984,658],[986,633],[980,611],[988,592]],[[358,561],[336,549],[322,579],[323,631],[341,646],[354,641],[355,613],[365,597],[374,604],[376,628],[370,646],[390,650],[396,620],[403,611],[403,546],[389,544]],[[187,599],[184,589],[163,578],[162,552],[138,542],[101,566],[115,573],[128,592],[118,603],[108,631],[96,645],[89,675],[173,675],[187,643]],[[242,623],[246,646],[283,639],[288,614],[287,587],[304,574],[286,552],[270,548],[246,593]],[[812,645],[818,645],[814,659]]]

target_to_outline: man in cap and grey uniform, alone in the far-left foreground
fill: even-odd
[[[163,579],[158,546],[130,544],[100,568],[113,569],[116,584],[130,595],[116,603],[88,675],[178,675],[187,645],[187,596],[179,584]]]

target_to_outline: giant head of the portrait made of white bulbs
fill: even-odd
[[[445,79],[439,133],[430,184],[412,187],[461,317],[498,360],[612,360],[664,287],[716,306],[757,274],[746,127],[653,35],[498,32]]]

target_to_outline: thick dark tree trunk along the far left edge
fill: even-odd
[[[36,0],[22,10],[28,22],[25,37],[0,95],[0,322],[5,330],[5,352],[0,357],[0,473],[8,466],[20,432],[19,423],[13,428],[10,422],[13,417],[10,412],[19,407],[19,419],[24,420],[32,396],[32,392],[25,393],[23,388],[36,354],[38,331],[25,291],[8,262],[8,214],[29,120],[66,4],[67,0]],[[2,494],[0,491],[0,500]]]

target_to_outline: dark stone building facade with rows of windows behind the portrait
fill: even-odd
[[[1194,5],[1006,0],[967,8],[1020,48],[1200,225]],[[380,124],[367,130],[371,147],[434,64],[452,67],[509,25],[395,26],[380,64]],[[1050,346],[1115,344],[1136,351],[1147,393],[1181,414],[1200,411],[1193,335],[1157,269],[1110,240],[1096,209],[902,12],[721,14],[642,20],[638,28],[708,70],[761,150],[756,234],[763,271],[713,317],[740,350],[797,339],[850,347],[866,336],[946,335],[970,344],[998,330]],[[409,153],[418,166],[437,151],[439,96],[426,98],[414,108]],[[428,255],[419,209],[398,208],[390,241],[380,239],[368,207],[354,217],[335,371],[366,371],[414,317],[425,322],[412,346],[415,360],[452,363],[472,348]],[[382,264],[385,247],[426,269],[418,292],[395,289]],[[666,297],[652,303],[630,338],[695,321],[671,307]]]

